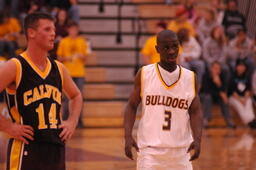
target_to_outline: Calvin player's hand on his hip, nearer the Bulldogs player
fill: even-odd
[[[77,123],[75,121],[62,121],[62,124],[59,126],[59,128],[62,129],[59,137],[63,142],[69,140],[73,136],[76,129],[76,124]]]

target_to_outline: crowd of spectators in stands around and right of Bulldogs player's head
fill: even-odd
[[[236,0],[213,0],[199,12],[195,6],[195,0],[187,0],[166,25],[180,40],[180,65],[197,73],[204,124],[211,121],[215,102],[228,127],[235,127],[232,107],[244,124],[256,128],[256,38],[247,36],[246,18],[238,11]],[[145,49],[155,48],[155,44],[144,45],[144,58],[150,57]]]

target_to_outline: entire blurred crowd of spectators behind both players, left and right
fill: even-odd
[[[237,1],[212,0],[201,10],[196,6],[196,0],[187,0],[177,5],[175,19],[157,22],[155,35],[140,51],[143,64],[159,61],[156,34],[175,31],[180,40],[179,64],[197,73],[205,127],[212,120],[212,105],[217,104],[228,127],[235,127],[231,106],[245,125],[256,128],[256,36],[248,34],[250,28]],[[56,18],[56,46],[50,55],[64,63],[82,91],[84,65],[92,52],[89,40],[79,33],[77,0],[0,0],[0,60],[24,50],[22,21],[37,11]]]

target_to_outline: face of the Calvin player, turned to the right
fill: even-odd
[[[53,49],[55,39],[55,26],[53,21],[40,19],[35,29],[33,39],[35,43],[45,50]]]

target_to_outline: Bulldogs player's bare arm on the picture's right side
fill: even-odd
[[[196,96],[189,107],[190,125],[193,133],[194,141],[188,148],[188,152],[194,150],[190,161],[197,159],[200,155],[201,136],[203,128],[203,114],[201,110],[200,98],[198,96],[198,84],[196,81]]]

